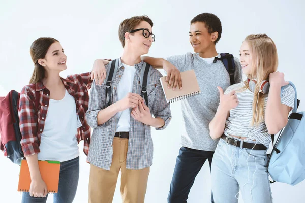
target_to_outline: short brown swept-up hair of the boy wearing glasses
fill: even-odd
[[[118,37],[120,42],[122,43],[122,46],[124,48],[125,46],[125,33],[133,30],[138,24],[140,24],[142,21],[146,21],[150,24],[151,27],[154,26],[153,21],[146,15],[143,16],[134,16],[131,18],[127,18],[121,22],[118,28]]]

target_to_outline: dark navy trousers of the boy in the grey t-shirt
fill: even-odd
[[[181,147],[170,183],[168,203],[186,203],[191,187],[204,162],[208,160],[211,168],[214,152]],[[211,202],[214,203],[213,193]]]

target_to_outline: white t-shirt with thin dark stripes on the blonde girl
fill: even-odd
[[[240,92],[242,87],[245,84],[243,82],[231,85],[225,91],[225,94],[230,93],[232,90],[236,91],[238,106],[234,109],[230,110],[230,117],[226,121],[226,127],[224,134],[226,136],[240,136],[246,137],[245,141],[256,140],[258,143],[265,145],[267,148],[271,142],[271,136],[268,133],[268,129],[265,124],[265,120],[263,120],[256,127],[250,126],[252,120],[252,104],[254,94],[249,89]],[[261,94],[260,94],[261,95]],[[284,87],[281,103],[288,106],[294,107],[294,89],[291,85],[287,85]],[[264,99],[264,113],[266,110],[268,94],[263,95]]]

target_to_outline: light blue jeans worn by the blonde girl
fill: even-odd
[[[272,202],[267,161],[266,150],[240,149],[220,139],[211,168],[215,202],[237,203],[239,189],[245,203]]]

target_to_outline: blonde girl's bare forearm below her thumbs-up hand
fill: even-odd
[[[217,139],[222,136],[228,117],[229,111],[219,106],[214,119],[209,123],[210,136],[212,139]]]

